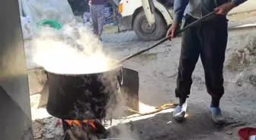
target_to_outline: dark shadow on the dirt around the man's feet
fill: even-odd
[[[172,112],[159,113],[144,120],[131,120],[129,123],[113,126],[110,132],[116,132],[124,137],[128,137],[130,133],[136,140],[188,140],[222,132],[226,126],[238,123],[227,118],[225,124],[217,126],[210,119],[208,110],[202,108],[204,107],[191,104],[189,115],[182,123],[173,119]]]

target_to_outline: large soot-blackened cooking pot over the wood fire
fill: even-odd
[[[53,117],[64,120],[106,117],[107,108],[115,102],[118,80],[122,80],[121,71],[122,66],[101,73],[81,74],[62,74],[46,69],[49,84],[46,110]]]

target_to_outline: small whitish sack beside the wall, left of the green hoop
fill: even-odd
[[[23,39],[34,38],[34,23],[31,17],[21,17],[21,30],[23,34]]]

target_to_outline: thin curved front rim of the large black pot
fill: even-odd
[[[113,59],[113,58],[108,58],[112,61],[116,61],[118,62],[117,60]],[[53,73],[53,74],[57,74],[57,75],[62,75],[62,76],[81,76],[81,75],[88,75],[88,74],[99,74],[99,73],[107,73],[107,72],[110,72],[112,70],[117,70],[117,69],[121,69],[123,67],[122,64],[119,64],[117,65],[117,67],[114,67],[113,69],[110,69],[110,70],[105,70],[105,71],[101,71],[101,72],[97,72],[97,73],[56,73],[56,72],[53,72],[51,70],[47,70],[46,67],[43,67],[43,69],[47,72],[47,73]]]

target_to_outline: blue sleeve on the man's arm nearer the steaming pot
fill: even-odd
[[[181,22],[189,0],[174,0],[174,22]]]

